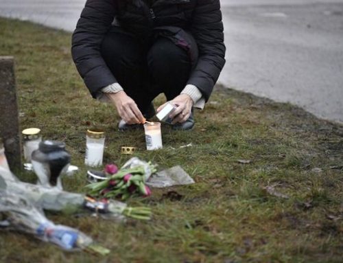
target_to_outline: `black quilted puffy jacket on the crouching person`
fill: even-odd
[[[194,84],[209,99],[225,63],[219,0],[87,0],[73,33],[71,51],[93,96],[117,82],[100,54],[102,40],[114,26],[139,38],[158,32],[185,49],[190,45],[185,32],[191,33],[199,56],[187,84]]]

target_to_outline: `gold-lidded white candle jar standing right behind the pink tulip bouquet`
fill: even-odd
[[[86,135],[86,157],[84,163],[91,167],[102,165],[104,157],[105,133],[99,129],[89,129]]]

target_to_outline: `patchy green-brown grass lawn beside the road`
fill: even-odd
[[[88,95],[71,60],[70,33],[0,19],[0,39],[0,55],[16,60],[21,128],[64,141],[80,167],[64,179],[66,190],[84,192],[91,126],[106,130],[105,163],[122,165],[128,157],[120,147],[136,146],[139,158],[181,165],[196,181],[128,201],[151,207],[147,222],[47,213],[95,238],[110,249],[107,257],[1,232],[0,262],[342,262],[343,126],[216,87],[193,131],[163,126],[164,148],[147,152],[142,130],[118,132],[113,106]]]

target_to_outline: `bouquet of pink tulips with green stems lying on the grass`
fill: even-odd
[[[106,165],[105,172],[104,181],[86,185],[89,194],[126,200],[131,196],[150,196],[151,190],[145,181],[156,172],[156,166],[133,157],[120,170],[115,164]]]

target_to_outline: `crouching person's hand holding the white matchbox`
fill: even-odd
[[[168,102],[165,104],[167,103]],[[193,100],[191,97],[189,97],[187,94],[180,94],[174,98],[174,100],[171,100],[170,103],[176,106],[176,110],[169,115],[169,117],[172,119],[171,124],[176,124],[176,122],[182,124],[182,122],[186,122],[191,115],[191,109],[193,106]],[[157,112],[161,111],[165,104],[159,106],[157,108]]]

